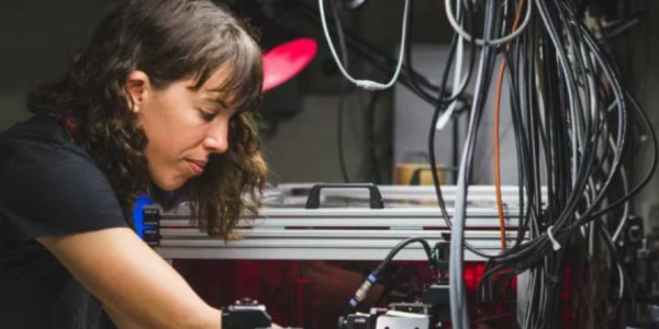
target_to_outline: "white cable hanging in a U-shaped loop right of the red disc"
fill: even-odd
[[[371,81],[371,80],[355,80],[355,78],[353,78],[346,71],[346,69],[343,67],[343,64],[338,59],[338,56],[336,55],[336,50],[334,49],[334,44],[332,43],[332,37],[330,36],[330,31],[327,29],[327,21],[325,20],[325,8],[324,8],[323,0],[319,0],[319,9],[321,11],[321,21],[323,22],[323,32],[325,33],[325,38],[327,39],[327,46],[330,46],[330,52],[332,52],[332,57],[334,57],[334,61],[336,61],[338,69],[344,75],[344,77],[346,77],[346,79],[348,79],[348,81],[355,83],[357,87],[361,87],[367,90],[384,90],[384,89],[391,88],[393,86],[393,83],[395,83],[399,75],[401,73],[401,68],[403,67],[403,59],[404,59],[404,54],[405,54],[405,38],[406,38],[406,34],[407,34],[409,7],[410,7],[410,0],[405,0],[405,9],[403,12],[403,29],[402,29],[403,35],[401,36],[401,49],[400,49],[400,54],[399,54],[399,64],[395,68],[395,72],[393,73],[393,77],[391,78],[391,80],[387,84],[382,84],[380,82],[376,82],[376,81]]]

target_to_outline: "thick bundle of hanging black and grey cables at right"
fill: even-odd
[[[583,324],[591,327],[606,324],[607,317],[603,315],[608,315],[612,308],[608,306],[618,303],[624,288],[629,286],[615,242],[629,213],[629,198],[649,181],[657,162],[656,136],[646,115],[622,86],[612,57],[585,25],[584,13],[577,10],[573,1],[446,0],[446,8],[457,33],[440,90],[447,87],[456,56],[461,57],[456,53],[462,43],[469,43],[472,53],[479,52],[480,56],[477,69],[469,70],[476,73],[476,86],[453,220],[433,171],[442,212],[447,224],[453,225],[449,280],[454,328],[470,328],[462,282],[465,248],[489,260],[483,281],[502,271],[528,273],[528,303],[518,317],[522,328],[563,328],[561,294],[568,268],[572,284],[589,284],[573,294],[585,298],[593,310],[573,317],[581,321],[577,328],[584,328]],[[476,37],[473,31],[465,31],[463,23],[471,21],[470,25],[474,25],[477,11],[483,10],[482,36]],[[485,101],[494,77],[495,185],[500,188],[496,118],[501,111],[501,86],[506,77],[521,193],[517,236],[507,250],[496,256],[474,249],[463,238],[477,132],[484,111],[491,111],[485,109]],[[469,75],[465,81],[468,79]],[[450,103],[451,100],[444,100],[437,105],[429,131],[428,148],[435,167],[435,126]],[[632,156],[626,154],[628,138],[639,129],[651,137],[654,159],[638,185],[630,186],[624,159]],[[489,159],[479,159],[483,160]],[[540,193],[541,186],[547,188],[546,197]],[[505,246],[500,193],[496,198]],[[529,241],[522,243],[524,236]],[[589,282],[584,276],[594,281]],[[610,277],[617,277],[617,286]],[[610,291],[615,291],[617,297]]]

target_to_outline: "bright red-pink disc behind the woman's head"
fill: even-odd
[[[264,91],[268,91],[298,75],[316,54],[313,38],[298,38],[264,54]]]

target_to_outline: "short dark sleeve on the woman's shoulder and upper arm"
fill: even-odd
[[[0,215],[22,240],[129,226],[110,182],[82,149],[43,140],[10,148]]]

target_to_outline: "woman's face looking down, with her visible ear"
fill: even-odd
[[[210,155],[227,150],[230,120],[236,111],[226,94],[214,91],[226,78],[226,70],[216,70],[198,90],[192,78],[158,90],[142,71],[129,77],[133,111],[148,138],[148,172],[160,189],[182,186],[203,172]]]

